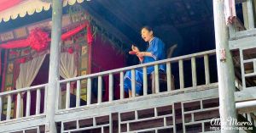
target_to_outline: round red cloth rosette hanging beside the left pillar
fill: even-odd
[[[30,35],[27,37],[27,42],[30,43],[30,47],[38,52],[46,49],[49,41],[50,38],[48,33],[39,28],[32,30]]]

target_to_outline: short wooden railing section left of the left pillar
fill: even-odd
[[[1,119],[3,120],[9,120],[9,119],[19,119],[22,117],[30,117],[31,114],[31,103],[32,103],[32,91],[36,91],[36,97],[33,97],[36,99],[36,108],[35,108],[35,115],[38,114],[44,114],[45,108],[46,108],[46,95],[44,95],[44,103],[43,100],[41,100],[41,93],[44,91],[44,94],[47,91],[46,84],[39,85],[39,86],[31,86],[26,87],[14,91],[5,91],[0,93],[0,114],[1,116],[5,116],[5,118]],[[26,96],[26,108],[24,105],[24,96]],[[3,114],[3,101],[7,100],[7,109],[5,110],[6,113]],[[12,109],[12,103],[15,105]],[[40,112],[40,107],[44,106],[44,111]],[[11,112],[14,112],[14,114],[11,114]],[[26,112],[25,115],[23,115],[23,112]]]

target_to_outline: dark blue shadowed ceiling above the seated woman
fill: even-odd
[[[168,45],[185,43],[184,38],[189,37],[187,32],[195,34],[198,31],[198,28],[191,31],[193,27],[204,27],[200,30],[209,30],[209,25],[213,27],[212,0],[92,0],[84,7],[119,30],[118,35],[128,43],[143,43],[140,36],[143,25],[156,29]],[[207,34],[212,37],[214,30]],[[170,36],[173,37],[170,39]]]

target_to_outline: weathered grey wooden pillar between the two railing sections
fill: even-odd
[[[60,53],[61,53],[61,16],[62,1],[52,1],[52,29],[49,55],[49,84],[47,93],[46,125],[45,132],[56,133],[55,126],[55,101],[60,79]]]

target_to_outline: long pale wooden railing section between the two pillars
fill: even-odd
[[[60,80],[60,87],[59,91],[58,91],[58,103],[57,103],[57,108],[58,109],[67,109],[70,108],[70,97],[71,97],[71,93],[73,93],[73,95],[76,96],[76,104],[75,104],[75,108],[79,108],[80,105],[80,99],[81,99],[81,91],[82,89],[85,89],[85,91],[87,92],[86,95],[87,97],[84,98],[84,101],[86,101],[86,106],[93,104],[93,103],[97,103],[100,104],[103,102],[102,99],[102,79],[103,77],[108,77],[108,102],[112,102],[113,100],[123,100],[127,97],[125,97],[125,92],[124,92],[124,75],[125,72],[128,70],[131,70],[131,93],[132,96],[130,98],[136,98],[136,91],[135,91],[135,85],[136,85],[136,80],[135,80],[135,71],[136,69],[143,69],[143,96],[147,96],[149,95],[148,93],[148,75],[147,75],[147,67],[149,66],[154,66],[154,85],[155,85],[155,93],[160,93],[162,90],[165,91],[170,91],[170,92],[174,92],[174,91],[186,91],[188,89],[196,89],[196,88],[200,88],[200,86],[208,86],[211,83],[210,81],[210,70],[209,70],[209,56],[212,56],[213,58],[215,58],[215,50],[210,50],[207,52],[202,52],[202,53],[194,53],[194,54],[189,54],[189,55],[185,55],[185,56],[181,56],[181,57],[177,57],[177,58],[168,58],[165,60],[160,60],[160,61],[156,61],[156,62],[152,62],[152,63],[148,63],[148,64],[139,64],[139,65],[135,65],[135,66],[131,66],[131,67],[126,67],[126,68],[121,68],[121,69],[113,69],[113,70],[108,70],[108,71],[104,71],[104,72],[100,72],[100,73],[96,73],[96,74],[91,74],[91,75],[84,75],[84,76],[80,76],[80,77],[75,77],[75,78],[71,78],[71,79],[67,79],[67,80]],[[201,58],[201,62],[204,66],[203,68],[197,69],[196,67],[196,59]],[[186,82],[189,82],[189,80],[185,80],[184,78],[188,78],[188,77],[184,77],[184,66],[183,63],[184,62],[189,62],[189,64],[191,64],[190,66],[190,72],[191,72],[191,78],[192,78],[192,85],[191,86],[185,86],[187,85]],[[166,65],[166,88],[160,88],[160,72],[159,72],[159,65],[160,64],[165,64]],[[172,88],[172,84],[174,84],[175,82],[172,82],[172,74],[177,74],[177,71],[175,71],[175,73],[173,73],[173,69],[172,69],[172,64],[177,64],[178,68],[178,78],[174,77],[175,82],[177,83],[177,85],[179,87],[176,88]],[[212,64],[216,64],[216,62],[213,62]],[[109,64],[111,65],[111,64]],[[186,69],[188,69],[188,65],[185,67]],[[197,78],[197,72],[201,71],[201,69],[204,69],[204,79],[200,79],[200,80],[205,80],[204,85],[198,85],[198,78]],[[217,72],[214,74],[216,75]],[[118,75],[119,77],[119,99],[113,99],[113,77],[114,75]],[[186,75],[186,74],[185,74]],[[187,76],[187,75],[186,75]],[[96,78],[97,79],[97,88],[92,88],[92,80]],[[82,82],[83,82],[83,86],[82,86]],[[217,82],[217,80],[215,81]],[[86,83],[84,85],[84,83]],[[71,85],[75,85],[71,87]],[[96,98],[94,98],[94,96],[92,95],[92,89],[97,89],[97,96]],[[61,92],[63,93],[63,91],[66,91],[66,93],[64,95],[61,95]],[[63,100],[65,97],[66,100]],[[92,99],[93,98],[93,99]],[[62,99],[62,100],[61,100]],[[93,100],[93,102],[92,102]],[[65,103],[61,106],[61,101],[65,101]],[[65,107],[63,107],[65,106]]]

